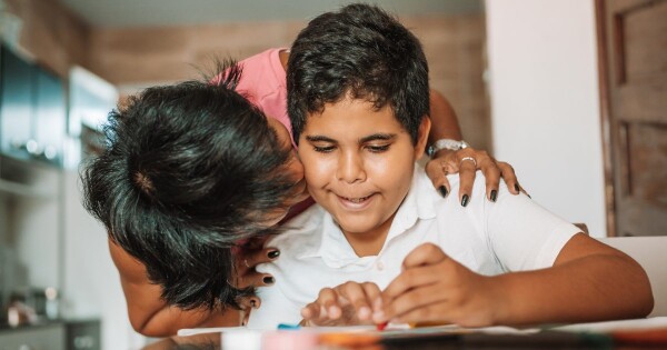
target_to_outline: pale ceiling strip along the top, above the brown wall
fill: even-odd
[[[163,27],[239,21],[308,20],[350,0],[59,0],[99,28]],[[375,0],[399,14],[481,11],[481,0]]]

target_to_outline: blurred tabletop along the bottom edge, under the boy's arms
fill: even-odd
[[[308,330],[282,331],[299,334]],[[278,333],[278,332],[266,332]],[[262,337],[266,333],[261,333]],[[379,336],[378,336],[379,334]],[[455,329],[452,327],[426,329],[415,332],[359,332],[338,338],[335,349],[355,350],[430,350],[430,349],[667,349],[667,317],[567,326],[541,326],[528,329],[484,328]],[[223,337],[223,336],[222,336]],[[357,339],[355,339],[357,337]],[[375,337],[375,338],[374,338]],[[292,337],[293,338],[293,337]],[[345,340],[347,338],[347,340]],[[266,339],[262,338],[262,339]],[[325,339],[325,338],[322,338]],[[336,340],[336,337],[331,338]],[[311,346],[302,349],[332,349]],[[344,339],[344,341],[341,341]],[[347,341],[347,342],[346,342]],[[296,344],[263,343],[262,349],[299,350]],[[252,348],[249,342],[235,344],[236,349]],[[162,339],[145,350],[222,349],[220,332]]]

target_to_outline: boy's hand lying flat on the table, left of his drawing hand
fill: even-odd
[[[301,309],[303,326],[371,324],[372,302],[380,298],[376,283],[346,282],[325,288],[316,301]]]

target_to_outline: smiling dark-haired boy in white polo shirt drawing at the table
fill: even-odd
[[[317,206],[269,243],[281,258],[259,270],[277,283],[259,289],[249,327],[481,327],[650,312],[634,260],[526,196],[501,186],[490,202],[476,186],[464,209],[429,188],[415,167],[430,128],[428,67],[418,40],[380,9],[348,6],[299,33],[288,108]]]

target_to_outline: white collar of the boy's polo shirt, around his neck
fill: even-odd
[[[392,239],[406,233],[406,231],[417,223],[418,219],[427,220],[436,218],[434,201],[438,199],[437,196],[437,191],[432,188],[431,181],[424,172],[424,169],[419,164],[416,164],[412,184],[394,217],[387,240],[379,253],[380,256]],[[310,246],[309,249],[307,248],[302,251],[299,258],[321,258],[331,268],[357,267],[365,269],[370,267],[376,257],[358,257],[342,234],[340,227],[334,221],[331,214],[325,210],[321,211],[321,214],[323,216],[321,230],[313,232],[313,234],[320,234],[319,246]]]

